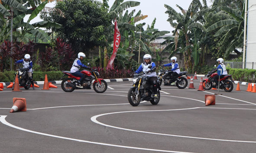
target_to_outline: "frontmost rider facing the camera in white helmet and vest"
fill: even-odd
[[[146,72],[146,73],[152,72],[151,74],[144,74],[144,75],[149,77],[148,81],[153,86],[154,97],[157,98],[158,97],[158,95],[157,95],[158,84],[157,84],[157,77],[156,77],[156,71],[155,71],[156,70],[156,64],[151,61],[151,55],[149,55],[149,54],[145,54],[143,59],[144,59],[144,63],[142,63],[139,66],[138,70],[136,70],[135,73],[138,74],[141,71]],[[149,65],[152,65],[151,70],[148,70]]]

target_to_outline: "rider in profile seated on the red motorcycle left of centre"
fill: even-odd
[[[73,65],[71,67],[71,70],[70,70],[71,74],[74,75],[75,77],[81,77],[80,80],[78,80],[79,84],[76,85],[78,88],[83,88],[82,83],[85,78],[85,75],[83,73],[81,73],[81,70],[79,70],[80,67],[84,67],[86,69],[91,70],[91,67],[87,67],[86,65],[81,63],[81,60],[83,60],[84,57],[85,57],[84,53],[82,53],[82,52],[78,53],[78,58],[75,59]]]

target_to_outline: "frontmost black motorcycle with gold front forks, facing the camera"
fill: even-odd
[[[152,68],[150,65],[149,68]],[[132,69],[133,70],[133,69]],[[152,105],[157,105],[160,100],[160,90],[161,84],[158,82],[157,97],[154,97],[153,86],[147,81],[148,76],[144,74],[150,73],[140,73],[133,75],[133,87],[128,91],[128,101],[132,106],[138,106],[141,101],[150,101]]]

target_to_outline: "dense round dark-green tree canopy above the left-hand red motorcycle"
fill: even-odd
[[[102,5],[96,0],[63,0],[55,6],[62,11],[62,16],[51,11],[40,17],[62,24],[60,29],[52,28],[52,31],[76,52],[88,51],[95,46],[106,46],[106,38],[113,30],[110,14]]]

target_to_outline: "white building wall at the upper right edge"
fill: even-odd
[[[248,0],[247,19],[246,63],[256,62],[256,0]],[[246,64],[246,68],[251,68],[250,63]]]

